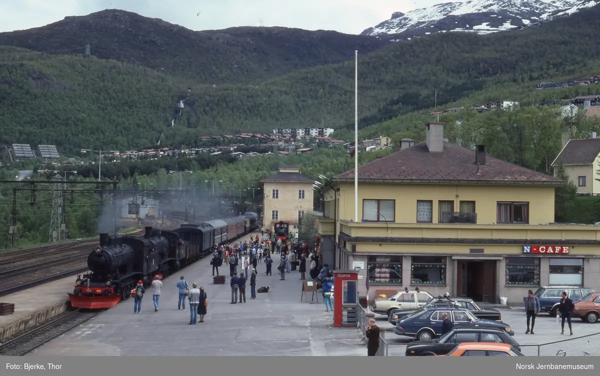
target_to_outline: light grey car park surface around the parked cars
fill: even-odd
[[[524,310],[502,310],[502,320],[511,326],[515,331],[514,339],[520,345],[538,345],[548,344],[550,342],[559,342],[552,345],[541,347],[541,356],[554,356],[557,351],[563,350],[568,355],[582,356],[583,351],[592,353],[594,356],[600,356],[600,325],[584,323],[580,319],[573,319],[573,336],[569,335],[568,326],[565,323],[565,334],[560,335],[560,322],[556,323],[556,317],[550,317],[548,314],[541,313],[536,319],[535,334],[525,334],[527,329],[527,320]],[[384,316],[377,316],[377,325],[382,328],[391,328],[391,324],[386,322]],[[595,334],[589,336],[591,334]],[[385,338],[389,342],[405,344],[412,339],[395,335],[393,332],[386,332]],[[578,339],[576,339],[578,338]],[[523,347],[523,353],[526,355],[537,354],[537,347]],[[401,352],[400,349],[397,352]]]

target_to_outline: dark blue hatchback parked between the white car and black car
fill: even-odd
[[[494,320],[479,319],[465,308],[449,304],[447,307],[434,305],[421,308],[410,316],[398,321],[394,328],[397,335],[409,336],[417,341],[430,341],[442,335],[442,314],[448,314],[448,319],[454,323],[454,328],[483,328],[502,329],[509,335],[515,332],[506,323]]]

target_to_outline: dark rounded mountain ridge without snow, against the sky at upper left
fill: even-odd
[[[351,60],[388,41],[365,35],[288,28],[191,31],[159,19],[105,10],[41,28],[0,33],[0,45],[57,54],[91,54],[223,84],[262,80],[295,69]]]

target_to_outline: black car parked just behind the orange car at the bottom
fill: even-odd
[[[438,339],[412,342],[406,347],[406,356],[445,355],[463,342],[505,343],[521,351],[517,341],[503,329],[455,328]]]

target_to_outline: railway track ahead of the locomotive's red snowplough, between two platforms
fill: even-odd
[[[0,344],[0,356],[24,356],[69,330],[82,325],[106,310],[68,311],[38,328],[29,330],[4,344]]]

